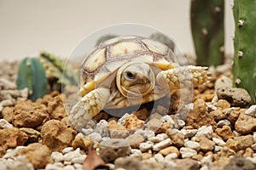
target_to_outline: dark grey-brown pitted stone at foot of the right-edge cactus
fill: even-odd
[[[251,97],[243,88],[218,88],[218,99],[225,99],[230,102],[231,106],[247,107],[251,102]]]

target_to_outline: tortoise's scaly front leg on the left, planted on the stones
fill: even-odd
[[[81,129],[86,125],[88,120],[103,110],[108,102],[109,96],[108,88],[96,88],[90,91],[89,94],[84,95],[84,97],[73,106],[68,115],[69,121],[74,127]]]

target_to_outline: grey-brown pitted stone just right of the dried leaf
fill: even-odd
[[[100,144],[99,154],[108,163],[131,153],[131,146],[125,139],[109,139]]]

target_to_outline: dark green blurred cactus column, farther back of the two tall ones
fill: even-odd
[[[224,0],[192,0],[190,22],[197,64],[223,64]]]

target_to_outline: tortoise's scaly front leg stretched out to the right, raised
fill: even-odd
[[[196,87],[208,82],[208,80],[209,72],[207,67],[193,65],[160,71],[156,77],[157,84],[161,85],[167,82],[170,91],[179,88]]]

